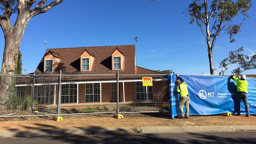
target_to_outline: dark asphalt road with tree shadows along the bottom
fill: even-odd
[[[255,131],[242,132],[198,132],[198,133],[155,133],[155,134],[101,134],[72,135],[59,137],[8,137],[0,138],[1,144],[255,144]]]

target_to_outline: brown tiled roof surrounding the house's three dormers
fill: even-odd
[[[111,53],[116,48],[124,55],[124,69],[119,70],[120,75],[165,74],[136,67],[135,45],[48,49],[45,54],[51,52],[54,53],[54,56],[59,56],[62,59],[53,73],[43,73],[44,58],[42,58],[35,74],[58,74],[61,70],[61,74],[63,75],[115,75],[116,70],[112,70]],[[85,50],[95,56],[91,71],[80,71],[80,55]]]

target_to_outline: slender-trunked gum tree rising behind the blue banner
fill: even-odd
[[[233,24],[233,19],[238,14],[242,14],[244,20],[249,18],[247,12],[251,7],[250,0],[193,0],[185,10],[184,13],[190,15],[190,24],[196,23],[206,37],[211,75],[214,75],[212,50],[216,38],[229,34],[230,42],[235,42],[233,35],[240,32],[242,23]]]

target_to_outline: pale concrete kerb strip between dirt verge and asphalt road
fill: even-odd
[[[124,133],[177,133],[177,132],[235,132],[256,131],[256,126],[147,126],[147,127],[109,127],[84,129],[42,129],[0,131],[0,137],[40,137],[86,134],[124,134]]]

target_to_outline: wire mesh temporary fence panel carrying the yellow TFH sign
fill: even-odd
[[[167,75],[119,75],[119,88],[120,113],[169,111]]]

